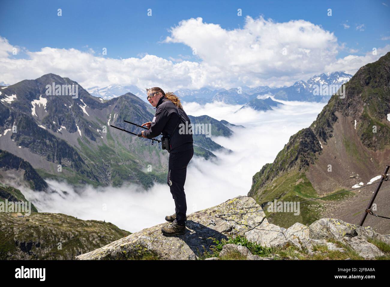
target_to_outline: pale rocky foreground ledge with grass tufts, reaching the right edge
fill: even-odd
[[[264,212],[251,212],[260,209],[254,199],[238,196],[188,215],[187,232],[184,235],[164,236],[161,233],[163,224],[159,224],[76,258],[102,260],[228,257],[227,259],[269,260],[389,257],[386,248],[390,244],[390,238],[376,233],[371,227],[322,218],[310,226],[297,222],[285,229],[270,224]],[[242,214],[222,215],[231,213]]]

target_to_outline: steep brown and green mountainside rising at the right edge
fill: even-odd
[[[303,201],[378,180],[376,177],[390,164],[389,85],[387,53],[360,68],[346,83],[345,97],[333,95],[310,127],[290,137],[274,162],[254,175],[248,196],[265,206],[274,199]],[[371,193],[367,190],[369,199]],[[348,192],[336,197],[336,201],[342,201],[344,196],[353,201],[355,195],[356,192]],[[323,206],[329,204],[324,203],[307,204],[305,213],[301,212],[302,222],[310,224],[326,214]],[[365,209],[361,205],[361,201],[353,204],[355,215]],[[390,215],[390,209],[382,206],[384,216]],[[353,222],[358,223],[360,217],[355,216]],[[269,214],[268,219],[281,225],[296,220],[286,213]]]

